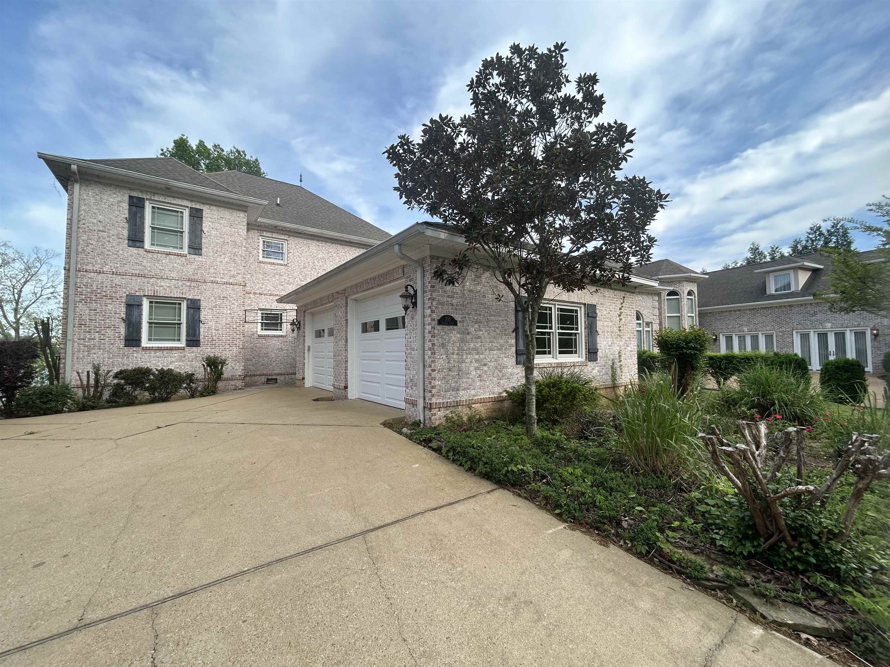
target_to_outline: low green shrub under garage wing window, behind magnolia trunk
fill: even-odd
[[[514,413],[525,418],[525,384],[506,390]],[[590,377],[577,368],[541,368],[535,382],[535,408],[543,426],[575,420],[578,413],[596,406],[599,395]]]

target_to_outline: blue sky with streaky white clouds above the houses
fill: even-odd
[[[601,79],[604,119],[637,128],[627,171],[672,199],[656,258],[717,269],[890,195],[886,2],[12,2],[0,240],[64,245],[38,150],[152,156],[180,133],[397,231],[424,216],[382,151],[465,111],[480,60],[516,41],[566,42],[570,71]]]

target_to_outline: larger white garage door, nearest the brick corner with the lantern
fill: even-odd
[[[356,303],[359,398],[405,407],[405,312],[399,293]]]

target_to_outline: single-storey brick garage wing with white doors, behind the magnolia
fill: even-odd
[[[419,393],[427,423],[466,406],[485,412],[504,407],[504,390],[522,382],[521,314],[506,288],[484,271],[469,273],[458,286],[433,279],[433,266],[463,247],[448,226],[417,223],[280,298],[297,307],[302,322],[298,378],[335,398],[407,407],[411,416],[421,414]],[[667,285],[637,271],[624,286],[548,290],[538,318],[538,367],[577,367],[601,387],[633,381],[636,350],[647,340],[651,347],[651,329],[664,325],[664,313],[678,327],[697,317],[696,285],[703,276],[673,266]],[[412,290],[417,304],[405,309],[401,295]],[[667,301],[671,293],[678,299]]]

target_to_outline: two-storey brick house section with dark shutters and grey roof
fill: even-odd
[[[282,181],[38,157],[69,196],[61,365],[76,385],[94,362],[200,377],[206,355],[228,359],[221,389],[293,384],[295,310],[276,300],[390,236]]]

